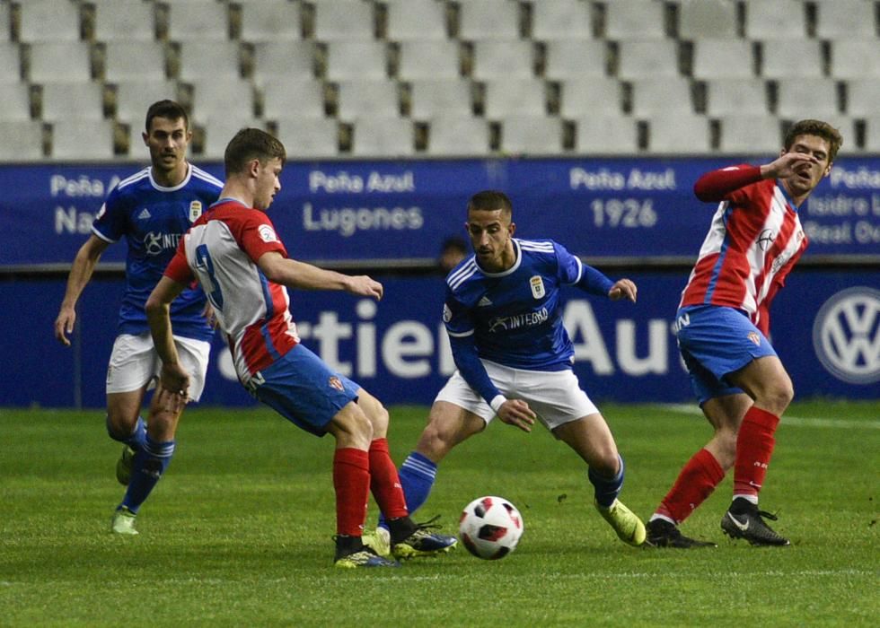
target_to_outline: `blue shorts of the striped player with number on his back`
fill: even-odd
[[[303,345],[296,345],[268,369],[259,371],[249,389],[291,423],[323,436],[339,410],[356,401],[360,387],[331,371]]]

